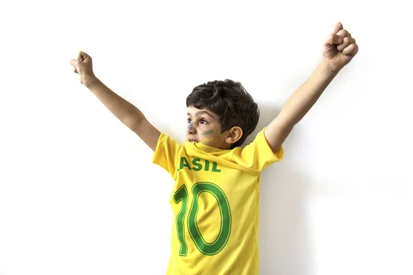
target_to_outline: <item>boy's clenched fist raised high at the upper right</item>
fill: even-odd
[[[339,71],[346,66],[359,51],[356,40],[350,32],[343,30],[341,23],[336,23],[334,31],[323,45],[323,63],[332,71]]]

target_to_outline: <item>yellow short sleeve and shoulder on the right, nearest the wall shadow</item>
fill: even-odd
[[[276,153],[273,152],[264,135],[264,129],[257,134],[253,142],[244,148],[233,149],[233,161],[254,172],[260,173],[268,165],[279,162],[284,157],[284,149],[279,147]]]

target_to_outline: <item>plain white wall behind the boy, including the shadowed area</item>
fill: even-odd
[[[1,275],[165,274],[173,182],[78,82],[78,50],[183,142],[185,98],[209,80],[240,81],[268,124],[336,21],[359,54],[262,175],[261,274],[413,273],[404,1],[134,2],[0,5]]]

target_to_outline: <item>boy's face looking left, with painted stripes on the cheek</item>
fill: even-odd
[[[221,133],[220,117],[209,109],[188,107],[187,140],[202,144],[229,149],[231,144],[226,142],[227,131]]]

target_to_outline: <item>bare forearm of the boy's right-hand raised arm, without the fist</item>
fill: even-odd
[[[320,63],[308,80],[288,98],[279,112],[284,124],[292,128],[313,107],[339,71],[331,71]]]

